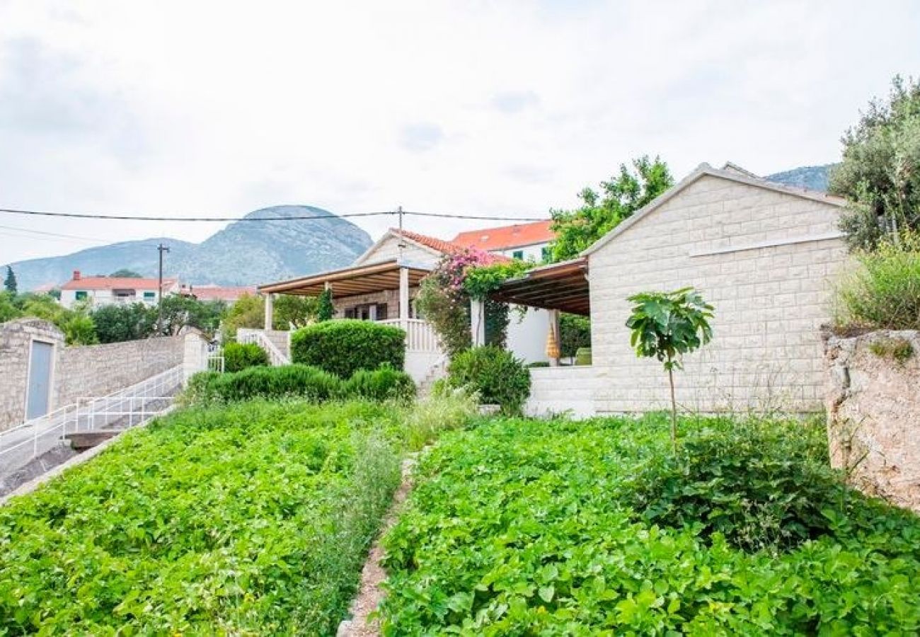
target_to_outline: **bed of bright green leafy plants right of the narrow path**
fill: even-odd
[[[443,436],[385,538],[383,633],[920,631],[920,519],[835,481],[822,426],[688,420],[684,448],[705,457],[672,460],[666,423]],[[737,461],[738,442],[765,459]],[[684,467],[686,494],[671,488]]]

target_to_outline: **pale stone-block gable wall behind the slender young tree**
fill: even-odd
[[[627,296],[690,285],[715,319],[713,342],[676,374],[684,409],[820,410],[840,203],[711,169],[673,190],[589,250],[597,410],[670,405],[661,364],[629,346]]]

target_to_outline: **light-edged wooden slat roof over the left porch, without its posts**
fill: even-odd
[[[263,284],[259,285],[259,292],[263,294],[317,296],[323,291],[326,284],[329,284],[332,287],[332,295],[341,298],[342,296],[366,295],[384,290],[398,290],[399,270],[401,268],[408,270],[408,284],[410,286],[418,285],[431,272],[430,268],[418,263],[400,263],[396,259],[391,259],[390,261],[311,274],[273,284]]]

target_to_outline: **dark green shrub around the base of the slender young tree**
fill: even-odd
[[[742,550],[788,550],[829,532],[845,497],[823,423],[734,423],[684,441],[638,473],[633,503],[652,524],[719,533]]]

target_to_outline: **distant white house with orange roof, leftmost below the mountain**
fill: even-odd
[[[146,303],[155,305],[160,295],[178,294],[178,279],[163,279],[160,288],[157,279],[123,276],[83,276],[74,271],[73,278],[61,286],[61,305],[74,307],[88,303],[93,307],[116,303]]]

